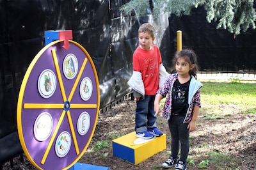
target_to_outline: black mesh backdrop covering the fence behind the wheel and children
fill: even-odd
[[[127,17],[119,8],[127,1],[0,0],[0,138],[17,130],[16,107],[20,84],[32,59],[44,43],[44,32],[72,29],[73,40],[90,54],[100,82],[100,108],[119,100],[131,89],[132,53],[143,22],[157,29],[156,45],[163,64],[171,70],[176,31],[182,31],[183,48],[196,51],[202,71],[255,72],[255,30],[236,36],[209,24],[203,8],[191,16],[148,15]]]

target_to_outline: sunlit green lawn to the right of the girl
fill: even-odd
[[[256,113],[256,84],[243,82],[203,82],[202,109],[205,119],[216,120],[223,116]],[[225,107],[223,107],[225,105]],[[227,109],[230,107],[231,109]]]

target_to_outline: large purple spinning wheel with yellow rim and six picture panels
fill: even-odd
[[[65,44],[66,43],[66,44]],[[54,41],[35,56],[17,104],[20,144],[38,169],[68,169],[83,156],[99,114],[99,81],[78,43]]]

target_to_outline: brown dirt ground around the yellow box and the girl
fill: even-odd
[[[204,113],[200,114],[196,131],[191,132],[188,157],[195,161],[195,166],[188,165],[188,169],[198,169],[198,164],[207,159],[209,152],[214,151],[227,154],[231,158],[240,158],[241,161],[232,162],[230,160],[227,162],[225,160],[221,162],[223,166],[218,168],[210,162],[207,169],[225,169],[225,167],[230,167],[230,164],[239,169],[256,169],[256,115],[240,114],[234,105],[220,104],[212,107],[232,114],[226,114],[223,118],[216,120],[205,119]],[[157,125],[166,134],[166,150],[138,165],[113,156],[111,136],[119,137],[134,131],[135,108],[136,102],[129,99],[100,113],[92,141],[78,162],[109,167],[109,169],[163,169],[161,164],[169,157],[171,140],[168,124],[161,117],[157,119]],[[99,141],[108,141],[109,148],[93,151],[93,146]],[[19,158],[14,159],[13,169],[35,169],[25,155],[24,157],[23,164],[20,164]],[[10,162],[6,162],[3,169],[11,169]]]

